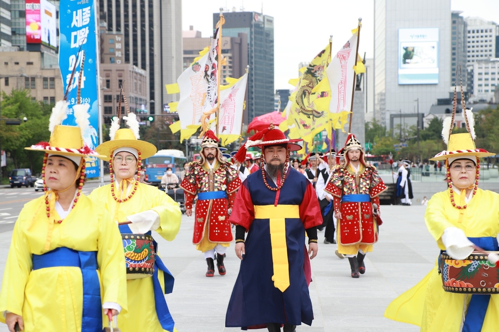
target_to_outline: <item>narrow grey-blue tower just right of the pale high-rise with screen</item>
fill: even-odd
[[[452,38],[456,45],[451,45],[451,85],[454,84],[456,78],[458,79],[458,84],[460,84],[460,79],[463,81],[463,89],[467,87],[467,40],[468,40],[468,23],[460,14],[462,11],[452,11]],[[456,69],[458,71],[458,76],[456,76]],[[461,72],[461,74],[460,74]]]

